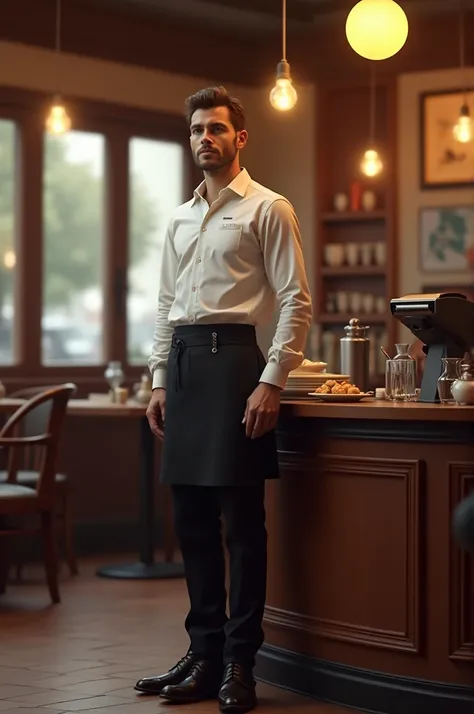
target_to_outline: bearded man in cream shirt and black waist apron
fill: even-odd
[[[246,712],[257,703],[252,669],[263,642],[265,479],[278,476],[280,391],[303,359],[311,298],[292,206],[240,168],[241,103],[223,87],[203,89],[187,100],[187,118],[204,181],[166,235],[147,416],[164,434],[161,480],[173,495],[191,644],[136,689],[175,702],[218,697],[221,711]],[[272,316],[275,295],[265,364],[255,326]]]

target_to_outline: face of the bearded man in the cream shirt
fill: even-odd
[[[227,107],[197,109],[191,119],[190,144],[193,159],[203,171],[219,171],[247,143],[247,132],[235,131]]]

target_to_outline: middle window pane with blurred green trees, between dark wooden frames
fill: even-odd
[[[45,136],[44,364],[103,361],[104,155],[99,134]]]

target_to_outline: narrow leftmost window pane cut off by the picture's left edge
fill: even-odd
[[[16,126],[0,119],[0,364],[15,351]]]

